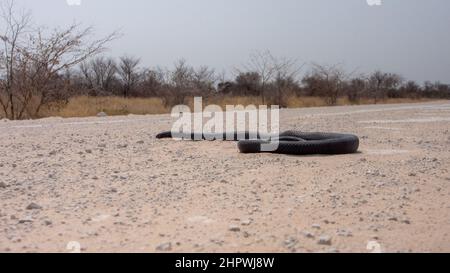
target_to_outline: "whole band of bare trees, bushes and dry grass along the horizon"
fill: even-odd
[[[31,24],[14,2],[0,3],[0,117],[167,113],[201,96],[208,104],[308,107],[450,99],[450,86],[419,85],[400,75],[348,73],[341,65],[298,63],[255,52],[241,68],[217,73],[179,60],[173,68],[145,68],[140,59],[103,56],[120,35],[95,38],[74,24],[48,31]]]

